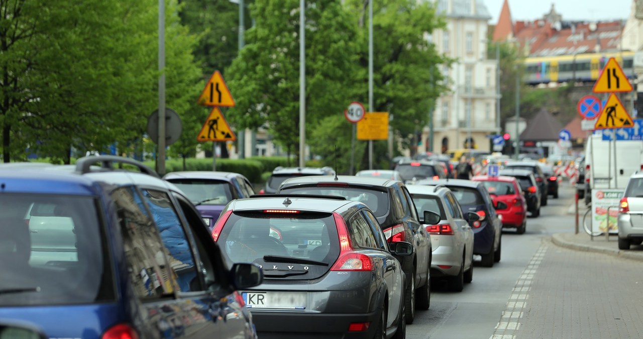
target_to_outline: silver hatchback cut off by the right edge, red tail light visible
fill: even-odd
[[[629,178],[619,206],[619,249],[643,243],[643,171]]]

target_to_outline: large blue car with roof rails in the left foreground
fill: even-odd
[[[140,172],[116,169],[114,163]],[[138,161],[0,165],[0,318],[48,338],[256,338],[201,215]]]

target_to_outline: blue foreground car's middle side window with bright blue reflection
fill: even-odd
[[[179,290],[183,292],[201,290],[194,257],[192,257],[192,247],[170,196],[159,190],[142,189],[141,192],[161,235],[161,241],[167,249],[168,264],[176,277]]]

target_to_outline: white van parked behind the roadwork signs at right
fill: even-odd
[[[585,143],[585,203],[593,188],[625,189],[629,177],[643,169],[643,142],[604,141],[593,134]]]

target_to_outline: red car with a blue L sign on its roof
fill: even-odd
[[[493,204],[498,201],[506,203],[508,208],[496,210],[502,215],[503,228],[516,228],[518,234],[525,233],[527,227],[527,201],[522,195],[522,190],[516,178],[512,176],[475,176],[475,181],[483,181],[483,185],[489,191]]]

